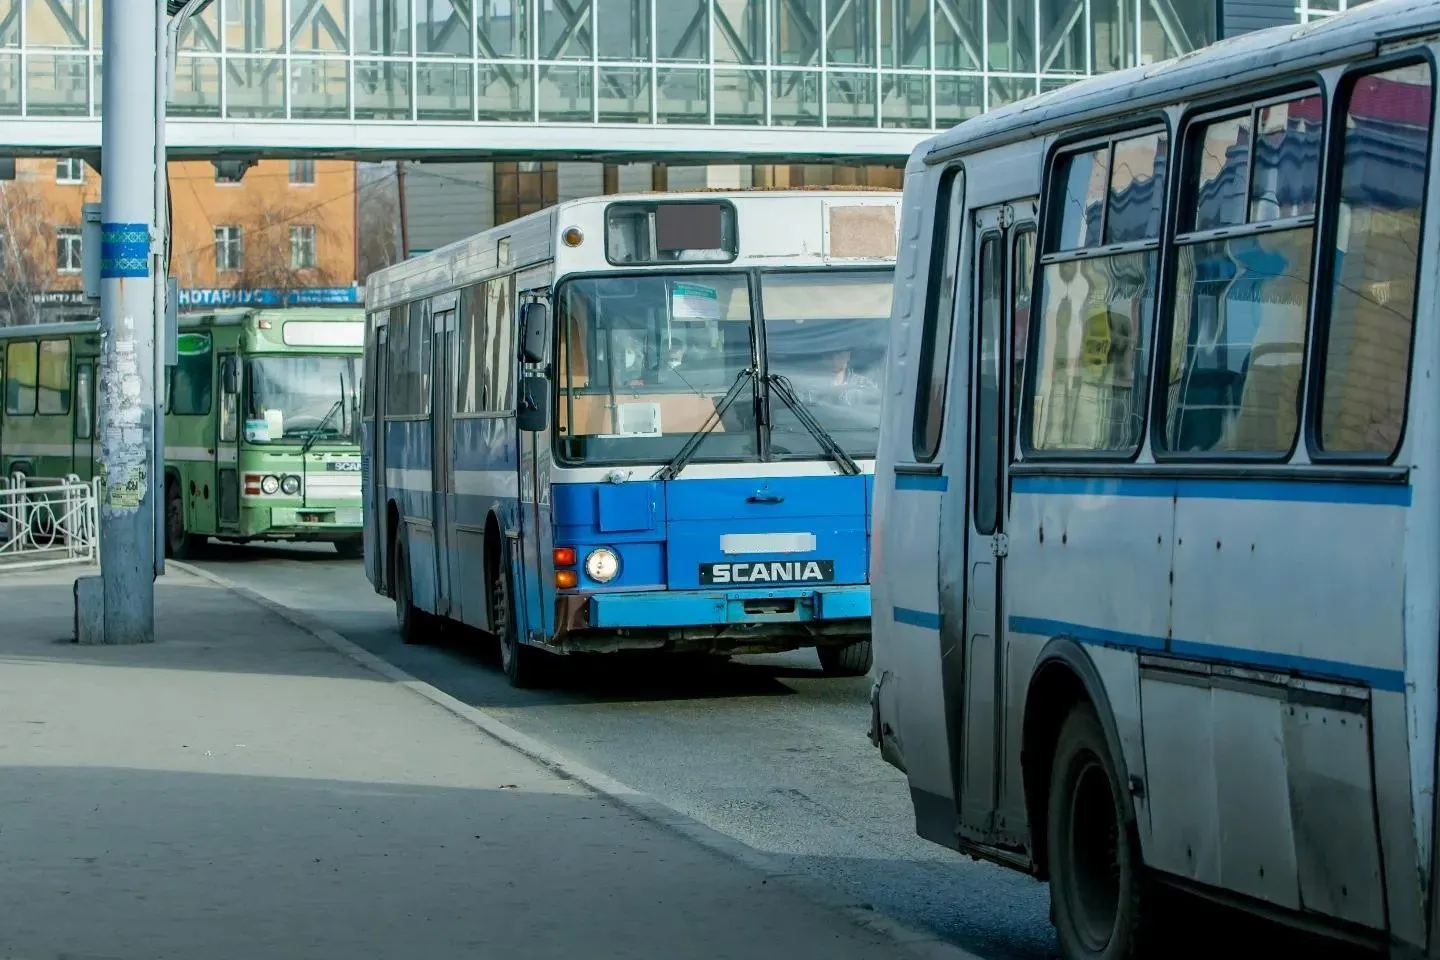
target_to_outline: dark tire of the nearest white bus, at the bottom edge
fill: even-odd
[[[1045,818],[1050,915],[1066,960],[1151,956],[1152,889],[1120,777],[1087,701],[1060,727]]]

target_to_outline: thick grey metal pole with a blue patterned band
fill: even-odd
[[[104,0],[101,462],[104,643],[156,639],[156,58],[158,3]]]

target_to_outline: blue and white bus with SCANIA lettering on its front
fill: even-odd
[[[566,201],[366,284],[366,571],[406,642],[870,668],[899,193]]]

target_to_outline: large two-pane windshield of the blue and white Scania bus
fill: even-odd
[[[759,281],[768,368],[785,377],[852,456],[874,456],[880,429],[893,272],[769,272]],[[557,443],[569,462],[665,462],[755,368],[750,278],[726,273],[589,276],[564,282],[560,317]],[[697,461],[760,453],[746,386],[696,452]],[[825,456],[778,400],[772,450]]]

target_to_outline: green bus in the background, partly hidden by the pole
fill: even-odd
[[[166,377],[166,554],[206,538],[363,551],[364,312],[181,314]],[[99,321],[0,328],[0,475],[95,475]]]

